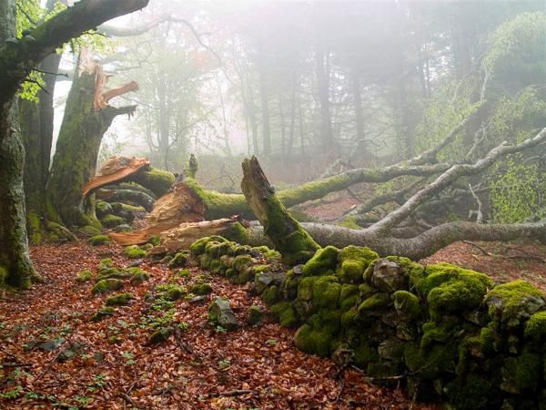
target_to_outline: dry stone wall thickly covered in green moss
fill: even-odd
[[[495,285],[449,263],[379,259],[367,248],[317,251],[283,272],[280,255],[221,237],[195,242],[204,268],[254,282],[304,352],[342,352],[376,382],[457,409],[546,409],[546,296]]]

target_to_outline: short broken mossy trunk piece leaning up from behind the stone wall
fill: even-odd
[[[256,157],[243,161],[241,189],[249,207],[264,227],[264,233],[281,253],[283,261],[297,264],[308,261],[319,249],[308,233],[275,195]]]

